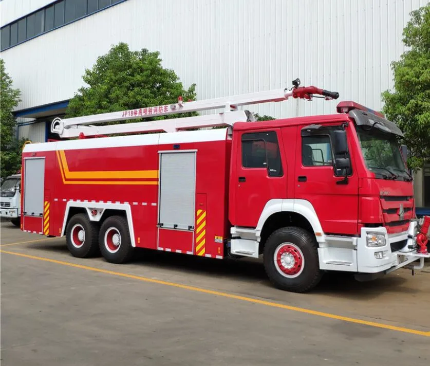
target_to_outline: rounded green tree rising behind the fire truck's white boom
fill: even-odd
[[[125,43],[111,47],[85,70],[82,78],[88,86],[81,87],[70,100],[66,118],[171,104],[179,96],[184,101],[194,100],[195,84],[185,90],[175,71],[163,68],[161,61],[159,52],[131,51]],[[185,115],[191,114],[167,117]]]

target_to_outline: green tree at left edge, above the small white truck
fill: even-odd
[[[16,120],[13,108],[21,101],[21,91],[12,87],[12,79],[5,70],[5,62],[0,59],[0,173],[2,178],[16,173],[21,167],[21,141],[15,138]]]

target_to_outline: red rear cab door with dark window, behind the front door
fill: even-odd
[[[281,130],[239,132],[236,155],[236,220],[233,225],[256,227],[268,200],[285,198],[286,164],[279,146]]]

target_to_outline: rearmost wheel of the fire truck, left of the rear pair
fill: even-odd
[[[83,238],[79,232],[83,230]],[[89,258],[99,253],[99,226],[86,213],[73,215],[66,227],[66,243],[73,257]]]

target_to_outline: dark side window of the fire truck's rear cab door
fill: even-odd
[[[267,169],[270,177],[283,175],[276,132],[243,134],[241,142],[242,167]]]

